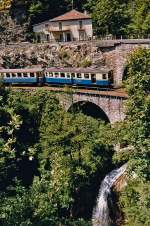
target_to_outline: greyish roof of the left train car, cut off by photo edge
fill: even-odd
[[[6,69],[0,68],[0,73],[32,73],[32,72],[41,72],[43,71],[42,68],[15,68],[15,69]]]

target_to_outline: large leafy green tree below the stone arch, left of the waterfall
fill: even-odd
[[[48,101],[41,120],[40,162],[44,167],[41,170],[44,173],[52,169],[53,197],[57,196],[57,202],[61,194],[62,198],[66,197],[66,213],[79,217],[78,206],[83,206],[86,216],[96,189],[92,181],[96,180],[98,172],[102,178],[107,163],[111,162],[111,147],[103,141],[105,126],[82,114],[72,115],[60,109],[53,114],[51,106]],[[59,203],[62,205],[64,201]]]

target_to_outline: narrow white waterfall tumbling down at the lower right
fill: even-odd
[[[111,187],[115,181],[125,172],[127,164],[119,169],[111,171],[100,186],[97,205],[94,208],[92,223],[93,226],[110,226],[108,195],[111,193]]]

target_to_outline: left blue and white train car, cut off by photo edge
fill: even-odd
[[[43,83],[42,68],[0,69],[0,78],[5,84]]]

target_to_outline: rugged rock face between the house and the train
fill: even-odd
[[[105,61],[98,47],[87,44],[17,44],[0,48],[0,67],[33,65],[55,67],[99,67]]]

